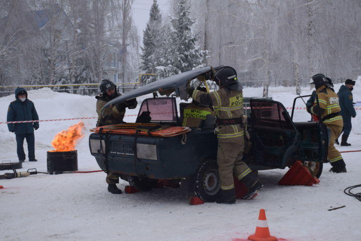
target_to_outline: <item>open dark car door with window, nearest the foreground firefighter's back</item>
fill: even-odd
[[[250,99],[250,134],[253,165],[257,170],[292,165],[299,132],[282,103],[267,99]]]

